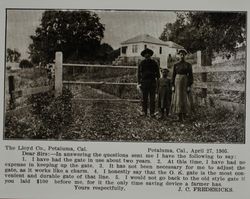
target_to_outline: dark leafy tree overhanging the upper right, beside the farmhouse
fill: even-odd
[[[172,40],[190,52],[235,52],[237,45],[246,42],[246,13],[177,13],[177,20],[166,24],[160,39]]]

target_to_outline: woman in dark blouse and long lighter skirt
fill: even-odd
[[[171,111],[178,114],[179,121],[183,121],[186,113],[191,110],[188,95],[193,84],[193,71],[192,65],[185,61],[187,51],[180,49],[178,54],[180,55],[181,61],[176,63],[173,69],[173,99]]]

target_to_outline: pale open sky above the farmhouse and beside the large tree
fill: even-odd
[[[174,22],[176,14],[170,11],[118,11],[94,10],[105,25],[102,42],[114,49],[121,42],[139,34],[149,34],[156,38],[161,35],[166,23]],[[6,25],[6,47],[21,53],[21,59],[28,58],[30,35],[35,34],[41,23],[43,10],[8,10]]]

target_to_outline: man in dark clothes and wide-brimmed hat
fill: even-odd
[[[160,70],[157,62],[151,59],[154,52],[146,48],[141,52],[145,59],[138,66],[138,87],[142,90],[142,110],[144,116],[147,115],[148,99],[150,102],[150,116],[154,117],[155,112],[155,92],[157,81],[160,78]]]

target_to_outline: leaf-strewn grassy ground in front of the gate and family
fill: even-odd
[[[82,88],[83,89],[83,88]],[[105,95],[85,87],[84,92],[74,91],[77,97]],[[112,95],[106,95],[111,98]],[[114,97],[114,96],[113,96]],[[72,122],[60,135],[62,140],[166,142],[166,143],[244,143],[245,117],[242,113],[226,109],[196,106],[183,122],[176,115],[165,120],[139,116],[140,104],[110,101],[73,101]],[[6,120],[7,139],[58,139],[50,131],[39,131],[41,120],[32,114]]]

